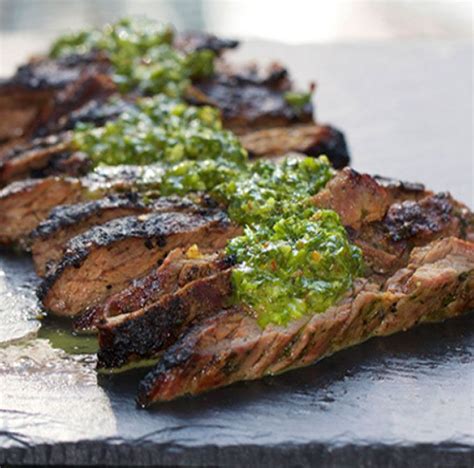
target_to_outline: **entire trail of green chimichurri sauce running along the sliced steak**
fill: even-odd
[[[325,311],[362,267],[337,213],[310,202],[334,175],[328,159],[250,162],[216,109],[179,99],[190,78],[212,73],[214,54],[184,54],[172,42],[168,26],[131,20],[56,41],[51,56],[105,52],[124,91],[158,94],[103,127],[79,125],[75,149],[96,166],[158,163],[148,178],[160,195],[206,192],[224,204],[245,227],[227,247],[238,262],[235,300],[249,305],[262,327]],[[287,93],[285,99],[298,108],[311,96]]]

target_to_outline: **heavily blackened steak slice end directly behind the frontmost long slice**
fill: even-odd
[[[99,323],[98,367],[117,368],[153,359],[195,320],[203,320],[231,298],[231,270],[199,278],[143,309]]]

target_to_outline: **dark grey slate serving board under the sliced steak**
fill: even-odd
[[[472,207],[472,46],[255,42],[318,77],[354,166]],[[97,377],[35,315],[28,258],[0,253],[0,465],[472,466],[474,315],[374,339],[306,369],[138,410],[140,372]],[[49,324],[48,326],[51,326]],[[9,344],[7,344],[9,343]]]

